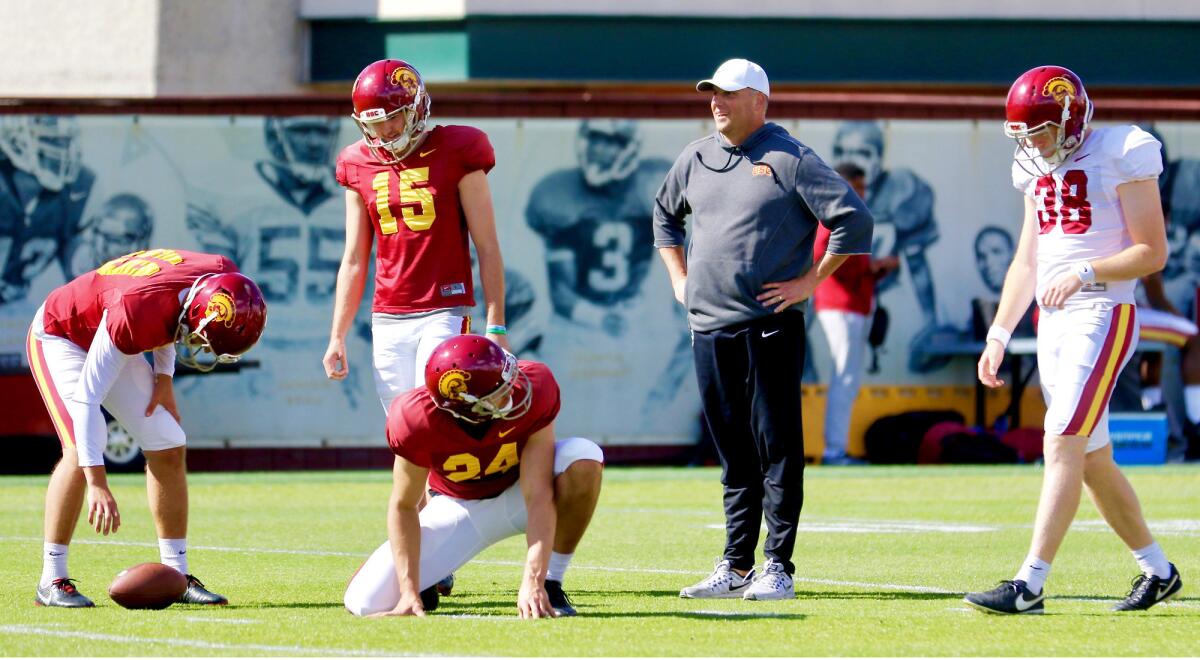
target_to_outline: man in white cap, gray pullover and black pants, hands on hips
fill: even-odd
[[[799,304],[847,256],[870,252],[874,221],[841,176],[767,122],[762,67],[728,60],[696,90],[712,91],[716,132],[689,144],[667,173],[654,245],[688,308],[704,424],[721,460],[726,542],[713,574],[679,595],[791,599],[804,502]],[[818,218],[832,234],[814,268]],[[763,514],[767,562],[756,577]]]

